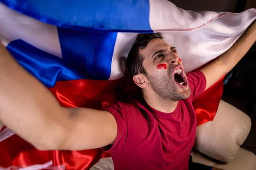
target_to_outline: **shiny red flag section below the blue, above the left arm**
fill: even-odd
[[[49,90],[64,107],[100,109],[125,96],[125,83],[124,78],[111,81],[79,79],[56,82]]]

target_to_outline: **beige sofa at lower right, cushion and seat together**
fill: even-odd
[[[192,160],[224,170],[255,170],[256,155],[240,148],[250,128],[249,116],[221,100],[213,121],[197,127]]]

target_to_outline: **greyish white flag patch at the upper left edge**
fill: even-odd
[[[55,56],[61,57],[56,26],[35,20],[0,3],[0,40],[5,46],[21,39]]]

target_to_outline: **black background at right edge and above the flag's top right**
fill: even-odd
[[[256,8],[256,0],[169,0],[192,11],[242,12]],[[250,116],[250,134],[241,146],[256,154],[256,43],[224,79],[222,99]]]

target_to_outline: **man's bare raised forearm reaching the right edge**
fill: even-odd
[[[247,29],[230,49],[200,70],[206,77],[206,89],[218,81],[224,74],[227,74],[244,57],[255,41],[256,22]]]

